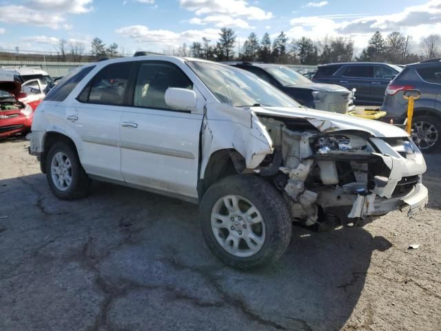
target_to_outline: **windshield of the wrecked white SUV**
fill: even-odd
[[[298,107],[296,101],[254,74],[222,64],[187,61],[187,65],[222,102],[234,107]]]

